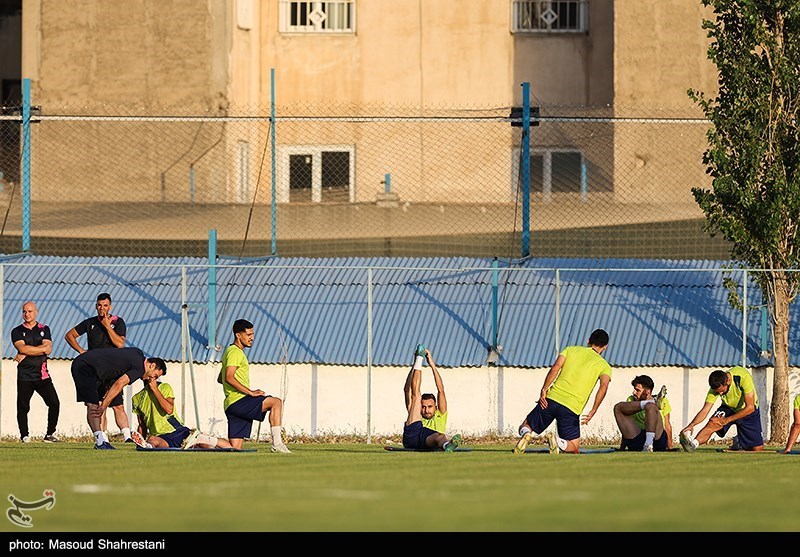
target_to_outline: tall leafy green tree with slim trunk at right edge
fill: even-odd
[[[731,242],[764,293],[774,350],[769,440],[789,431],[789,305],[798,294],[800,243],[800,2],[701,0],[714,20],[708,58],[714,98],[689,90],[711,127],[703,163],[711,190],[693,188],[706,230]]]

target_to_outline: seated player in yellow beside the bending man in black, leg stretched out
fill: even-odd
[[[164,370],[164,375],[167,372]],[[148,379],[142,390],[133,395],[133,412],[139,425],[132,432],[133,442],[144,448],[194,447],[202,449],[230,449],[227,439],[220,439],[184,425],[175,410],[175,393],[172,385],[158,379]],[[185,441],[185,444],[184,444]]]

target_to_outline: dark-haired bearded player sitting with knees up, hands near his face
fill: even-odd
[[[637,375],[631,381],[633,394],[614,405],[614,419],[622,434],[620,450],[668,451],[672,448],[672,407],[666,385],[653,397],[655,383],[648,375]]]

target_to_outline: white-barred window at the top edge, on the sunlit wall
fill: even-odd
[[[295,2],[280,0],[281,33],[355,33],[355,0]]]

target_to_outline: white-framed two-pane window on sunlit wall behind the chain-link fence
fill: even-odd
[[[355,149],[352,146],[279,148],[279,203],[355,201]]]

